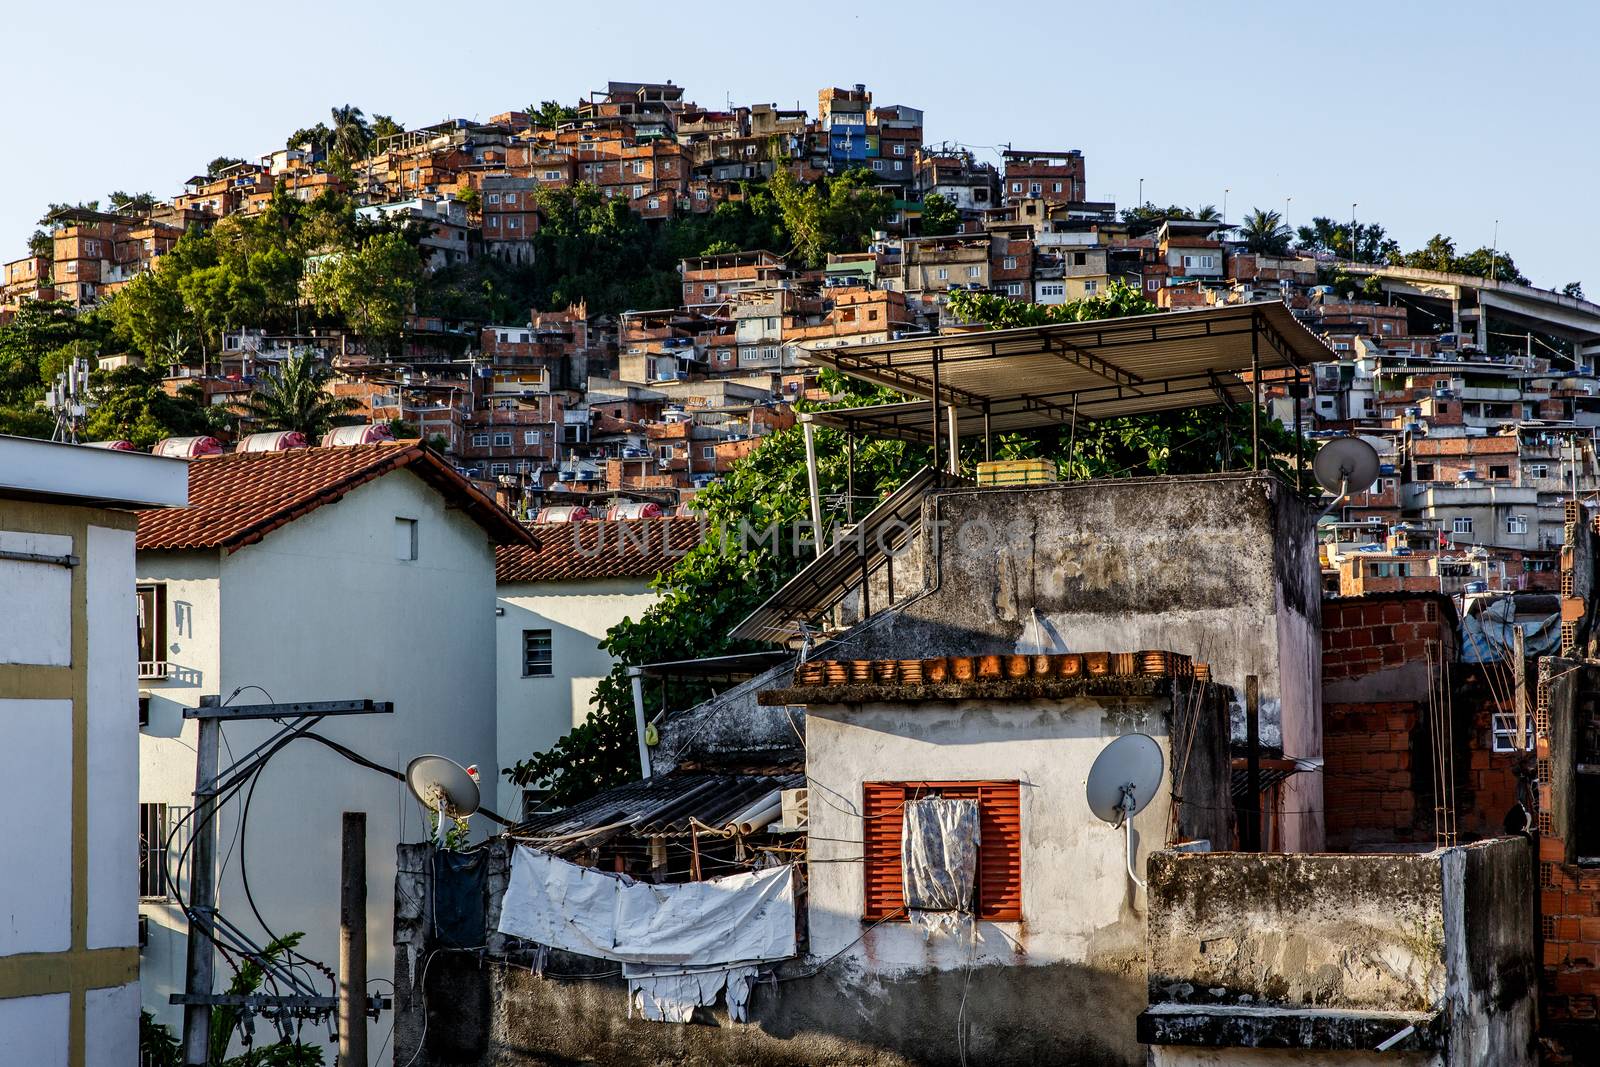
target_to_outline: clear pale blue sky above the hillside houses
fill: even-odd
[[[0,29],[0,259],[51,200],[170,197],[334,104],[403,125],[667,80],[704,106],[866,82],[926,138],[1083,149],[1094,198],[1251,206],[1499,243],[1536,285],[1589,283],[1600,174],[1587,3],[920,5],[88,0]],[[629,13],[637,13],[634,18]],[[718,13],[722,18],[718,18]],[[986,21],[986,14],[992,19]]]

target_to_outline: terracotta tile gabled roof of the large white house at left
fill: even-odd
[[[139,549],[242,549],[350,490],[408,469],[496,544],[536,544],[526,526],[418,442],[230,453],[189,464],[189,507],[139,517]]]

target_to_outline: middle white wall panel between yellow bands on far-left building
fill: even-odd
[[[0,701],[0,797],[18,819],[13,832],[27,840],[26,864],[0,862],[0,955],[66,952],[72,947],[72,701]],[[0,1000],[0,1008],[8,1003]],[[6,1062],[27,1061],[0,1056]]]

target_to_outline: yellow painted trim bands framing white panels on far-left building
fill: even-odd
[[[72,568],[72,665],[8,667],[0,670],[0,696],[72,697],[72,949],[0,957],[0,997],[70,993],[67,1013],[67,1067],[85,1067],[85,992],[126,985],[139,977],[138,947],[88,947],[90,926],[90,632],[88,552],[90,526],[136,530],[128,512],[5,501],[0,530],[51,533],[72,537],[82,560]],[[13,691],[14,689],[14,691]]]

